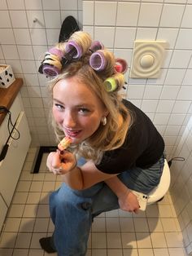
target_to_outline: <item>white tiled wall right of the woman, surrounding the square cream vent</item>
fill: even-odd
[[[158,79],[129,79],[126,98],[151,117],[172,161],[171,194],[192,250],[192,5],[185,0],[84,1],[84,29],[131,63],[135,39],[166,40]],[[110,11],[109,11],[110,10]]]

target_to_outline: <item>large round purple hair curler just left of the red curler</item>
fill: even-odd
[[[97,71],[102,71],[106,67],[106,59],[102,51],[94,52],[89,59],[91,68]]]

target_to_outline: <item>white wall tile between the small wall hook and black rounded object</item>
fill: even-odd
[[[45,18],[47,29],[60,29],[61,27],[60,11],[44,11],[44,18]]]

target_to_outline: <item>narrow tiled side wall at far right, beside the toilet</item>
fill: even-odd
[[[185,161],[172,161],[170,192],[189,253],[192,251],[192,117],[174,155],[185,157]]]

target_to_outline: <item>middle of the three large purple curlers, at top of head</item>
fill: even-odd
[[[66,45],[66,59],[80,59],[83,51],[82,47],[79,46],[75,41],[69,41]]]

